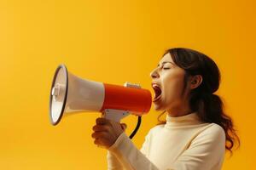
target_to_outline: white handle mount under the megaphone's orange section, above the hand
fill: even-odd
[[[130,115],[129,111],[106,109],[102,112],[102,117],[112,120],[114,122],[120,122],[125,116]]]

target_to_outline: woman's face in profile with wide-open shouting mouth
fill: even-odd
[[[156,111],[177,111],[187,104],[184,100],[187,92],[182,96],[184,75],[185,71],[174,64],[171,54],[160,59],[160,64],[150,73]]]

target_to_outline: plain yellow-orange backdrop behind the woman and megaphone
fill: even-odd
[[[241,3],[242,2],[242,3]],[[79,77],[150,88],[149,72],[167,48],[195,48],[222,72],[218,94],[234,118],[241,148],[223,169],[255,167],[255,3],[248,1],[0,1],[0,168],[107,169],[90,138],[99,113],[49,123],[57,65]],[[153,92],[151,90],[151,92]],[[153,107],[133,142],[156,123]],[[125,118],[127,133],[137,119]]]

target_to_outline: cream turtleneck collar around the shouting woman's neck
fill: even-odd
[[[197,112],[189,113],[185,116],[169,116],[166,115],[166,125],[165,127],[185,127],[188,125],[201,124],[200,118],[197,115]]]

